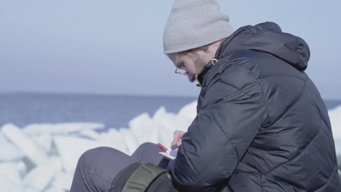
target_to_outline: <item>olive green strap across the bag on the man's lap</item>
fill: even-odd
[[[132,174],[122,192],[145,192],[160,175],[167,170],[151,163],[140,162],[142,165]]]

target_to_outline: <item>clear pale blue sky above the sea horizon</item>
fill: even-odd
[[[0,0],[0,92],[197,96],[163,54],[172,0]],[[341,100],[340,0],[218,0],[236,30],[305,39],[323,99]]]

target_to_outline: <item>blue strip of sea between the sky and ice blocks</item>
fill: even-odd
[[[23,127],[33,123],[92,122],[105,129],[128,127],[134,117],[164,106],[177,113],[195,97],[0,93],[0,126]],[[341,102],[340,102],[341,103]]]

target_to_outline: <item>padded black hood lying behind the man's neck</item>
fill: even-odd
[[[310,57],[309,46],[302,38],[282,32],[274,22],[239,28],[222,42],[215,58],[219,59],[239,50],[270,53],[300,71],[307,68]]]

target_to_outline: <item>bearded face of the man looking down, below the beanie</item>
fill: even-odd
[[[210,60],[207,58],[207,53],[200,49],[172,53],[167,56],[171,59],[175,67],[185,70],[188,73],[188,80],[190,82],[195,81],[195,75],[197,75]]]

